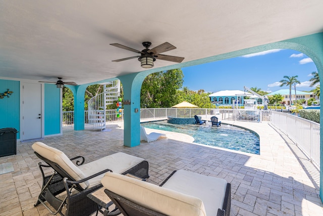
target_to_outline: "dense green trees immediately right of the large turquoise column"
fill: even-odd
[[[140,93],[140,107],[163,108],[177,104],[177,90],[183,85],[181,69],[149,74],[143,81]]]

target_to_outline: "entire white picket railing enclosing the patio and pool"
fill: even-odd
[[[123,111],[117,117],[117,110],[106,110],[106,122],[118,122],[124,120]],[[87,124],[87,111],[84,112]],[[319,124],[279,111],[271,110],[245,110],[245,109],[189,109],[189,108],[150,108],[140,109],[140,119],[160,120],[167,117],[194,118],[199,115],[203,120],[210,120],[214,115],[221,120],[271,122],[283,133],[290,137],[308,158],[319,168],[320,160],[320,131]],[[74,112],[63,112],[63,127],[74,125]]]

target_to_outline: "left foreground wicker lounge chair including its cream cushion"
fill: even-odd
[[[41,142],[34,143],[32,148],[47,164],[38,163],[43,183],[35,206],[41,203],[51,214],[83,216],[96,211],[96,203],[88,198],[87,194],[102,187],[100,181],[107,171],[130,173],[144,179],[149,177],[147,161],[122,152],[84,164],[84,157],[69,159],[62,151]],[[77,160],[76,165],[72,160]],[[45,176],[45,167],[51,167],[54,170],[53,174]],[[73,193],[70,193],[71,191]],[[45,201],[55,211],[51,210]]]

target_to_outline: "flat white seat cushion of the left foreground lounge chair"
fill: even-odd
[[[123,152],[118,152],[118,153],[94,160],[92,162],[82,164],[79,166],[79,168],[83,171],[83,173],[87,177],[93,174],[96,174],[99,171],[104,170],[104,168],[102,169],[102,167],[106,167],[108,169],[111,169],[113,172],[122,174],[126,170],[134,167],[135,165],[137,165],[142,161],[144,161],[144,159],[140,157],[135,157]],[[89,187],[91,188],[92,186],[100,184],[103,176],[104,174],[90,179]]]

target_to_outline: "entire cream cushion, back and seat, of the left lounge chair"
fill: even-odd
[[[142,158],[118,152],[92,162],[76,166],[62,151],[47,146],[44,143],[36,142],[32,145],[32,148],[42,157],[60,165],[75,181],[85,179],[86,177],[96,174],[104,169],[111,169],[112,171],[121,174],[141,161],[144,161]],[[86,189],[87,187],[98,185],[100,184],[100,180],[103,176],[104,174],[80,183],[80,186],[83,189]]]

